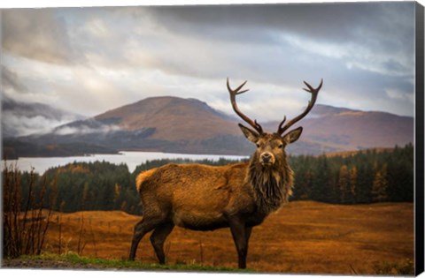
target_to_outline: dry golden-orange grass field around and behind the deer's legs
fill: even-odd
[[[48,234],[49,252],[58,252],[58,215]],[[80,251],[85,244],[81,255],[104,259],[127,258],[133,227],[140,220],[122,212],[60,217],[62,252],[77,252],[81,239]],[[136,259],[156,263],[149,236],[139,244]],[[228,229],[197,232],[175,228],[165,246],[172,264],[237,266]],[[413,203],[337,206],[297,201],[253,229],[247,260],[249,268],[261,272],[375,274],[375,263],[413,260],[413,250]]]

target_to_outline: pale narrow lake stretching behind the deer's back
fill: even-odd
[[[133,172],[137,165],[143,162],[158,159],[191,159],[218,161],[220,158],[228,160],[240,160],[247,156],[240,155],[216,155],[216,154],[167,154],[155,152],[120,152],[119,154],[92,154],[89,156],[66,156],[66,157],[19,157],[18,160],[7,161],[8,164],[16,163],[18,169],[22,171],[30,171],[32,167],[36,173],[42,174],[47,169],[57,166],[64,166],[72,162],[111,162],[113,164],[125,163],[128,170]],[[2,169],[4,169],[4,161],[2,161]]]

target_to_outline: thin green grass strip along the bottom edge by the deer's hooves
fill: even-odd
[[[61,255],[53,253],[43,253],[41,255],[21,256],[20,259],[42,259],[42,260],[51,260],[51,261],[66,261],[72,264],[78,265],[87,265],[90,268],[102,267],[102,268],[111,268],[111,269],[131,269],[131,270],[175,270],[175,271],[206,271],[206,272],[238,272],[238,273],[252,273],[255,272],[252,269],[238,269],[231,267],[211,267],[203,266],[198,264],[172,264],[172,265],[159,265],[153,263],[143,263],[141,261],[133,261],[127,259],[100,259],[100,258],[89,258],[79,256],[76,253],[68,252]]]

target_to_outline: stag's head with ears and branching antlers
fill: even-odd
[[[245,116],[237,107],[236,104],[236,94],[243,94],[248,90],[243,90],[243,86],[246,81],[243,82],[242,85],[238,86],[235,90],[230,88],[230,85],[227,82],[228,93],[230,94],[230,101],[232,102],[232,107],[235,110],[236,114],[240,116],[243,121],[247,124],[251,125],[251,128],[244,126],[243,124],[239,124],[239,127],[243,131],[243,135],[246,139],[250,140],[257,146],[257,149],[253,155],[254,159],[257,159],[259,165],[265,168],[275,168],[282,166],[281,164],[285,162],[284,159],[286,157],[285,147],[289,144],[297,141],[303,131],[303,128],[300,126],[296,129],[288,131],[293,124],[296,124],[299,120],[305,117],[308,112],[313,108],[313,105],[317,99],[317,94],[321,90],[321,86],[323,84],[323,79],[321,80],[321,84],[317,88],[313,88],[308,83],[305,83],[307,89],[304,89],[306,92],[312,94],[312,98],[309,101],[307,107],[304,112],[300,115],[291,119],[288,123],[285,124],[286,116],[283,117],[282,122],[279,124],[277,131],[274,133],[267,133],[263,131],[263,128],[257,120],[252,121],[250,117]]]

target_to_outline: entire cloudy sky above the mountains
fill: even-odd
[[[226,78],[259,122],[318,103],[413,116],[414,4],[6,9],[4,97],[96,116],[156,95],[232,114]]]

